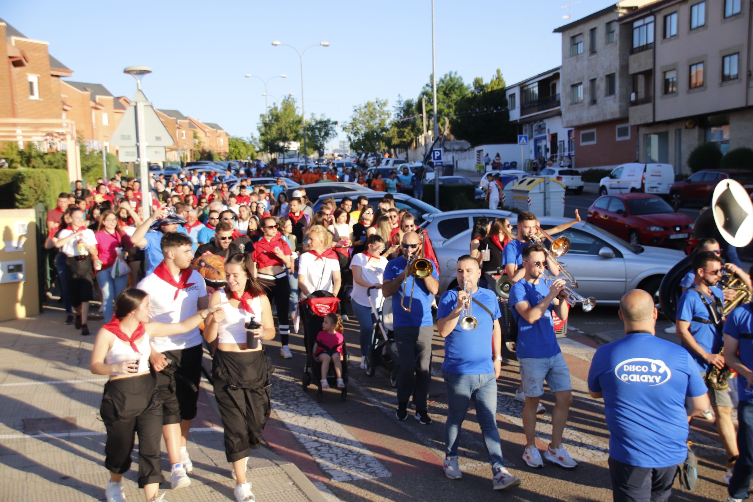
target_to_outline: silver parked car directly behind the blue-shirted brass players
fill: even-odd
[[[516,214],[509,218],[517,224]],[[542,217],[541,227],[546,230],[567,221]],[[599,305],[619,303],[623,294],[635,288],[656,295],[663,276],[685,256],[682,251],[630,244],[584,221],[556,236],[570,239],[570,251],[558,261],[578,281],[578,294],[596,297],[597,309]],[[457,287],[457,259],[468,254],[470,245],[468,229],[435,246],[440,266],[439,294]]]

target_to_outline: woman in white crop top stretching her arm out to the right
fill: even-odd
[[[136,431],[139,432],[139,487],[144,488],[147,502],[157,500],[162,482],[162,402],[155,399],[157,384],[149,372],[149,337],[185,333],[203,320],[211,322],[212,314],[221,308],[209,307],[181,323],[165,324],[149,322],[149,296],[142,290],[127,288],[115,300],[114,318],[97,333],[89,364],[95,375],[110,376],[99,409],[107,429],[108,500],[124,500],[120,481],[131,465]]]

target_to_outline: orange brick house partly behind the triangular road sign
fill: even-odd
[[[62,81],[60,96],[64,116],[76,123],[78,138],[88,148],[109,151],[112,138],[126,108],[102,84]]]

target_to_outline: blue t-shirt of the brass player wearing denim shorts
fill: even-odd
[[[520,302],[528,302],[535,307],[547,294],[549,287],[543,280],[538,281],[538,284],[531,284],[526,282],[526,279],[520,279],[510,289],[510,309],[518,325],[518,337],[515,342],[517,357],[552,357],[560,352],[554,333],[553,303],[550,303],[544,315],[533,324],[523,319],[515,308]]]

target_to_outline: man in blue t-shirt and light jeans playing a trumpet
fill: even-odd
[[[472,399],[492,464],[493,488],[503,490],[520,485],[520,478],[505,469],[497,429],[497,379],[502,361],[499,303],[491,290],[478,288],[481,269],[470,254],[458,258],[456,274],[462,289],[445,291],[437,309],[437,328],[444,338],[442,372],[447,389],[444,474],[450,479],[462,477],[459,433]]]

